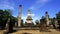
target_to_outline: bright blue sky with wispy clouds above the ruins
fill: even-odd
[[[0,0],[0,9],[12,10],[12,15],[18,16],[19,5],[22,5],[22,19],[27,17],[28,9],[31,10],[33,21],[41,19],[47,11],[50,18],[56,17],[60,11],[60,0]]]

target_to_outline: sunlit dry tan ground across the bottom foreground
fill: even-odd
[[[51,32],[40,32],[39,30],[17,30],[14,33],[11,34],[60,34],[60,31],[57,31],[55,29],[50,29]],[[6,30],[0,30],[0,34],[3,34]]]

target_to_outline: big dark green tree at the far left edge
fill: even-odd
[[[6,22],[10,16],[10,12],[7,10],[0,10],[0,27],[1,29],[5,28]]]

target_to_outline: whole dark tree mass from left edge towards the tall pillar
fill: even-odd
[[[12,16],[10,10],[0,10],[0,28],[5,28],[8,18],[11,19],[11,22],[13,22],[13,24],[17,21],[17,18]]]

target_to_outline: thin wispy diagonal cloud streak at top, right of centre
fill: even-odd
[[[44,6],[46,3],[50,2],[51,0],[36,0],[36,2],[30,6],[31,10],[37,10],[40,7]]]

